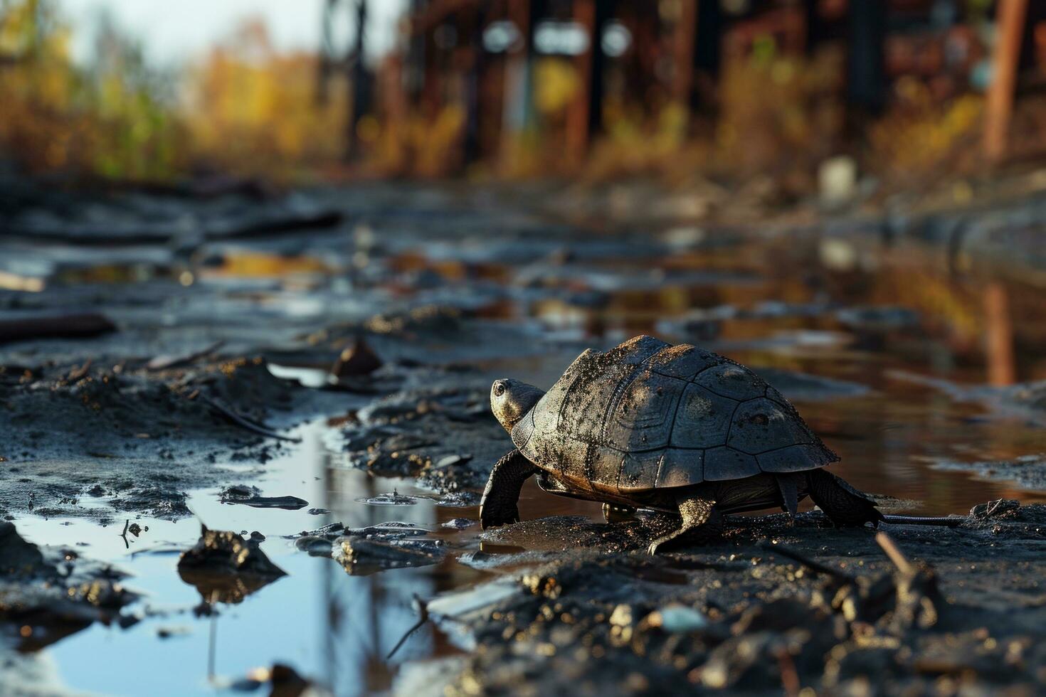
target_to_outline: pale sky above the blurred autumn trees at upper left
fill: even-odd
[[[278,49],[317,50],[323,0],[56,0],[75,29],[73,54],[89,59],[93,51],[94,18],[108,10],[116,24],[142,41],[146,56],[156,65],[176,66],[192,60],[228,37],[250,17],[266,20]],[[335,33],[349,34],[348,3],[341,10],[343,25]],[[369,0],[367,54],[381,55],[392,48],[395,22],[405,0]],[[355,17],[355,11],[353,13]],[[343,45],[343,44],[339,44]]]

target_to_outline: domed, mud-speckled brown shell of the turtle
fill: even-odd
[[[748,368],[652,336],[582,353],[511,437],[578,493],[627,496],[839,460]]]

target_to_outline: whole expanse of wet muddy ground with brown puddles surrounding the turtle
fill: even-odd
[[[1046,412],[1034,381],[1046,338],[1041,308],[1024,310],[1041,291],[1026,285],[1024,262],[1020,281],[956,277],[941,254],[1016,238],[1006,215],[1019,227],[1039,201],[956,214],[941,229],[969,232],[946,235],[942,253],[923,234],[939,216],[871,233],[864,222],[737,228],[640,212],[613,223],[599,206],[608,196],[366,185],[264,201],[4,199],[10,684],[30,694],[46,668],[24,656],[94,623],[134,631],[156,617],[248,611],[249,596],[287,582],[286,562],[264,548],[329,557],[353,577],[432,574],[431,591],[400,608],[423,621],[406,657],[374,650],[391,667],[387,683],[327,684],[337,694],[1034,694],[1046,681],[1046,509],[1036,503]],[[984,385],[998,359],[979,341],[993,330],[977,291],[987,282],[1004,285],[1022,318],[1010,323],[1018,385]],[[492,378],[547,388],[583,349],[642,332],[751,365],[884,510],[962,525],[886,526],[877,540],[806,505],[794,524],[738,516],[720,542],[652,558],[646,544],[670,520],[606,524],[595,505],[531,487],[524,521],[480,532],[479,494],[511,447],[490,413]],[[317,419],[333,511],[255,486],[302,447],[290,428]],[[339,489],[346,472],[374,485]],[[201,496],[315,525],[204,531],[192,548]],[[1001,503],[969,514],[990,499]],[[438,512],[431,525],[404,520],[423,504]],[[342,506],[366,508],[374,524],[337,519]],[[19,532],[41,519],[71,525],[69,537]],[[149,526],[179,520],[191,534],[160,551],[185,553],[168,571],[199,598],[175,612],[129,589],[138,557],[99,562],[77,549],[81,525],[122,529],[130,549]],[[412,654],[427,632],[441,648]],[[311,677],[301,672],[241,687],[286,679],[296,690]],[[315,689],[328,682],[313,677]]]

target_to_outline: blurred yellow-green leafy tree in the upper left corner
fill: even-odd
[[[70,30],[48,0],[0,3],[0,148],[31,170],[156,179],[179,166],[165,80],[140,47],[103,22],[89,69],[69,56]]]

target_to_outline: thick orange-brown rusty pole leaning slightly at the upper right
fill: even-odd
[[[992,162],[999,162],[1006,154],[1017,63],[1021,56],[1021,38],[1027,11],[1027,0],[999,0],[996,10],[998,39],[992,59],[992,84],[984,114],[984,155]]]

